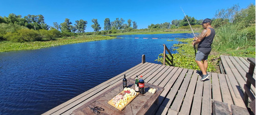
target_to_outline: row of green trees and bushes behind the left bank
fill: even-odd
[[[111,34],[116,33],[116,30],[137,29],[137,22],[128,19],[127,24],[124,24],[123,18],[116,18],[114,21],[110,21],[110,18],[104,20],[104,31],[99,32],[101,27],[98,23],[98,19],[92,19],[96,34]],[[69,37],[80,35],[79,33],[85,33],[88,22],[80,19],[76,20],[75,24],[66,18],[64,22],[58,24],[53,22],[53,27],[49,26],[45,22],[45,18],[42,15],[27,15],[22,17],[21,15],[9,14],[8,17],[0,16],[0,41],[13,41],[13,42],[26,42],[26,41],[42,41],[53,40],[60,37]],[[133,26],[133,27],[132,27]]]

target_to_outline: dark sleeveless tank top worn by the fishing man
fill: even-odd
[[[210,29],[210,35],[205,37],[199,44],[198,50],[204,53],[205,55],[210,54],[211,51],[211,43],[214,40],[215,30],[213,28]]]

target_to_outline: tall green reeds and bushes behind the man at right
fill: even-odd
[[[233,56],[255,57],[255,5],[238,9],[234,5],[217,11],[212,24],[216,28],[212,47]]]

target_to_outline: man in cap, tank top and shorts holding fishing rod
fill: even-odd
[[[201,69],[201,72],[197,71],[197,74],[200,75],[202,78],[201,81],[206,80],[209,75],[206,73],[208,63],[208,55],[211,51],[211,43],[214,40],[215,30],[211,27],[211,20],[206,18],[203,20],[201,24],[204,30],[201,32],[199,37],[194,38],[193,45],[198,44],[198,51],[196,54],[196,62]]]

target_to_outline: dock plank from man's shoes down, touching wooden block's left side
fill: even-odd
[[[202,99],[202,112],[201,114],[211,114],[211,74],[208,80],[204,81],[203,99]]]

